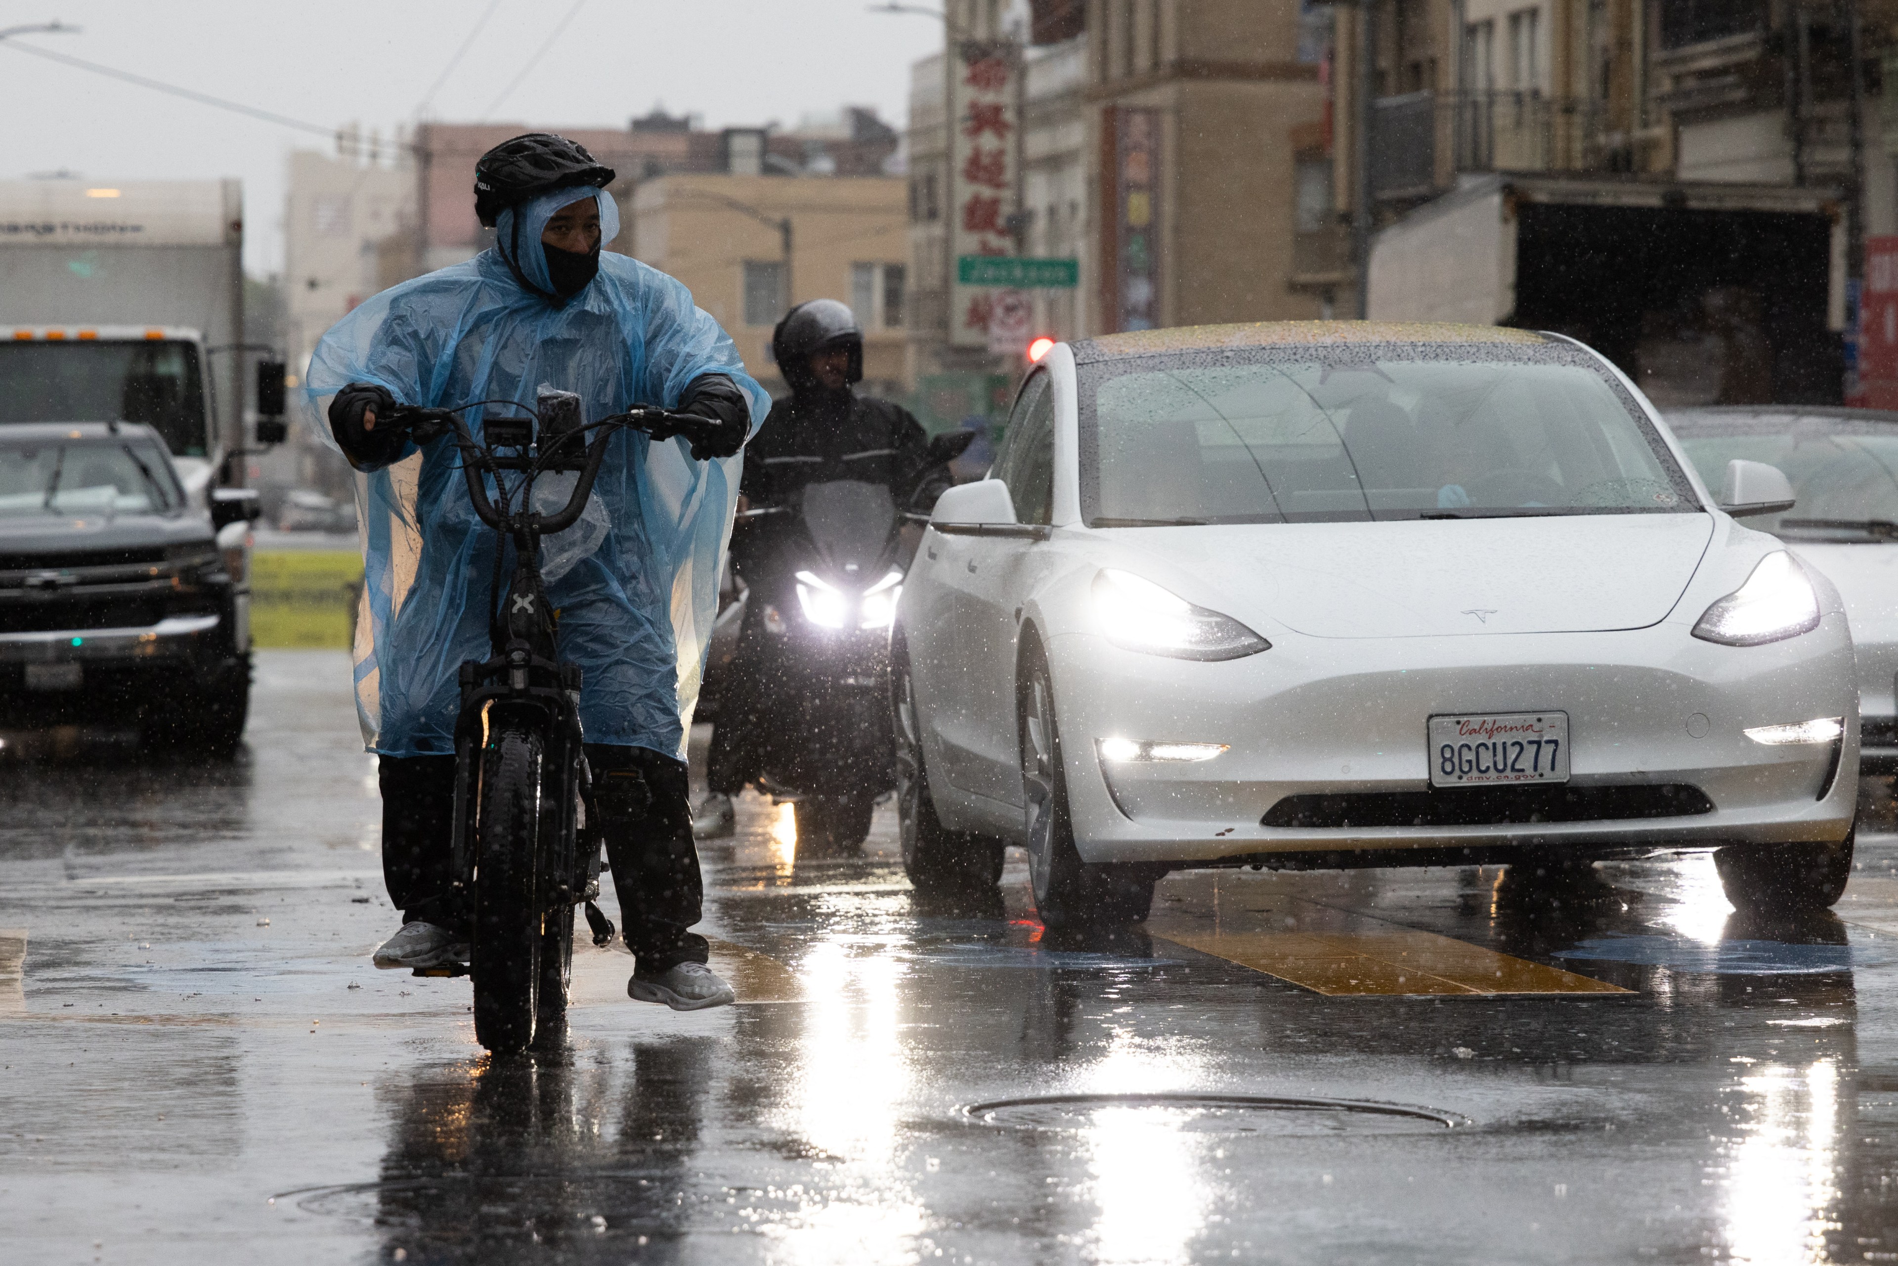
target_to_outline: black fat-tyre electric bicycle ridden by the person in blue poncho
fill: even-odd
[[[469,966],[418,974],[473,976],[474,1038],[495,1055],[511,1055],[566,1027],[573,907],[586,907],[594,945],[613,940],[611,921],[594,903],[605,839],[581,746],[581,666],[560,661],[558,615],[541,583],[541,541],[579,522],[615,431],[664,438],[716,423],[647,406],[583,423],[577,395],[543,389],[533,414],[490,414],[476,438],[461,412],[486,404],[528,414],[514,400],[476,400],[461,410],[397,406],[389,423],[416,444],[444,437],[456,444],[469,501],[497,535],[492,653],[461,664],[456,719],[452,848],[456,892],[471,921]],[[566,507],[537,512],[535,480],[568,471],[577,478]],[[512,484],[509,473],[516,475]],[[514,569],[503,588],[509,543]]]

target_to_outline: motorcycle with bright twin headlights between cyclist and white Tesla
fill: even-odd
[[[905,505],[947,484],[949,463],[974,438],[934,437]],[[748,729],[759,784],[797,805],[799,841],[856,848],[896,788],[890,624],[928,514],[900,509],[886,484],[845,478],[738,518],[748,526],[733,554],[748,588],[742,615],[727,617],[738,645],[721,670],[746,681],[721,691],[719,723]]]

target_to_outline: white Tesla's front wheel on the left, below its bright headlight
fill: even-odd
[[[1048,661],[1031,651],[1017,687],[1021,791],[1034,909],[1050,928],[1141,922],[1163,873],[1150,866],[1089,866],[1074,848],[1067,771]]]

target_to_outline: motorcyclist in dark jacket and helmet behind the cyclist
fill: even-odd
[[[949,486],[945,471],[930,478],[928,433],[900,404],[860,397],[864,380],[864,330],[848,306],[820,298],[784,315],[771,336],[772,357],[788,399],[771,406],[765,425],[744,450],[740,490],[750,505],[786,505],[805,484],[839,478],[881,482],[898,505],[928,511]],[[919,488],[921,480],[921,488]],[[757,528],[733,543],[738,571],[769,566],[769,552],[755,549]],[[757,577],[752,577],[754,581]],[[748,617],[750,619],[750,617]],[[700,839],[731,835],[733,795],[757,776],[752,729],[761,723],[754,664],[740,634],[738,655],[721,668],[721,712],[706,759],[708,795],[693,818]]]

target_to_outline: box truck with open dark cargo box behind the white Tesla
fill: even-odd
[[[1484,175],[1384,228],[1372,321],[1554,330],[1657,404],[1837,404],[1845,216],[1822,188]]]

